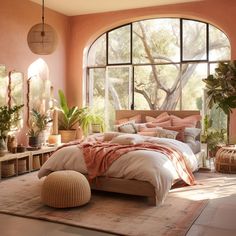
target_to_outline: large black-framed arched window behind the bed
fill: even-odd
[[[112,124],[117,109],[202,110],[203,78],[230,60],[230,43],[200,21],[161,18],[101,35],[88,53],[87,103]]]

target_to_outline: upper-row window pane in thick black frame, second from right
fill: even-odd
[[[183,20],[183,60],[206,60],[206,24]]]

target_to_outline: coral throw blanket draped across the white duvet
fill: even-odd
[[[160,144],[141,143],[120,145],[115,143],[85,142],[78,145],[83,150],[84,160],[90,179],[104,174],[121,155],[135,150],[152,150],[165,154],[174,165],[178,175],[189,185],[195,183],[194,176],[185,163],[182,154]]]

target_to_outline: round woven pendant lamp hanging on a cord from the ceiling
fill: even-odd
[[[44,0],[42,0],[42,23],[32,26],[27,42],[30,50],[39,55],[48,55],[57,47],[57,34],[52,26],[44,23]]]

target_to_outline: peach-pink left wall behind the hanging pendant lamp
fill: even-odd
[[[57,49],[54,53],[47,56],[33,54],[27,44],[27,33],[29,29],[34,24],[40,22],[40,5],[29,0],[1,1],[0,64],[5,64],[8,70],[14,69],[23,72],[25,77],[24,82],[26,84],[29,65],[41,57],[49,67],[50,80],[56,93],[58,88],[66,89],[68,17],[45,9],[45,22],[53,26],[58,34]],[[26,140],[25,133],[26,131],[20,135],[23,143]]]

